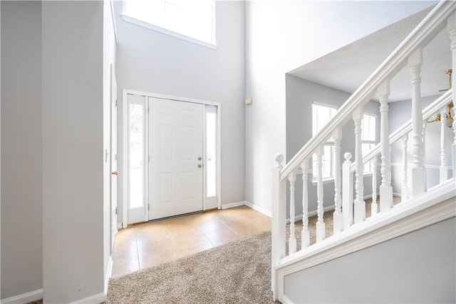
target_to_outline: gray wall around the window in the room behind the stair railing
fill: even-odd
[[[351,94],[322,86],[321,84],[306,81],[295,76],[286,75],[286,158],[291,159],[309,139],[312,137],[312,102],[318,101],[340,107]],[[377,115],[377,134],[376,139],[380,139],[380,103],[369,101],[364,106],[365,113]],[[351,161],[355,161],[355,134],[353,121],[350,120],[343,126],[341,142],[341,164],[345,161],[343,154],[350,152]],[[311,168],[311,161],[309,161]],[[309,211],[316,211],[316,185],[311,183],[309,174]],[[378,168],[377,189],[380,186],[380,169]],[[364,195],[372,193],[372,178],[364,178]],[[378,193],[378,191],[377,191]],[[302,199],[302,180],[301,176],[296,182],[296,201]],[[334,183],[326,183],[323,186],[323,206],[334,205]],[[302,213],[302,205],[296,205],[296,215]]]

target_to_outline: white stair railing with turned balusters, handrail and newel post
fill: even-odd
[[[274,299],[277,299],[278,285],[276,266],[280,265],[281,260],[286,258],[287,263],[290,263],[290,258],[299,254],[302,250],[311,250],[312,240],[309,233],[309,191],[308,169],[309,161],[316,156],[316,177],[317,177],[317,221],[316,221],[316,243],[322,242],[326,238],[326,226],[323,219],[323,174],[322,174],[322,157],[323,145],[328,138],[333,137],[334,140],[334,157],[335,174],[334,174],[334,202],[335,209],[333,213],[333,233],[340,233],[341,230],[349,230],[350,227],[366,220],[366,203],[363,198],[363,164],[371,161],[373,163],[373,173],[375,174],[377,162],[376,157],[380,153],[380,213],[388,212],[393,207],[393,188],[391,186],[391,168],[390,168],[390,144],[403,140],[403,183],[402,200],[407,200],[411,194],[419,196],[426,191],[425,178],[425,147],[423,143],[423,120],[439,111],[440,108],[450,102],[451,98],[455,98],[452,90],[447,91],[440,98],[428,106],[425,111],[421,106],[420,93],[420,69],[422,65],[423,48],[441,31],[445,26],[450,33],[452,50],[452,69],[456,71],[456,2],[441,1],[428,14],[425,19],[410,33],[410,35],[393,51],[390,56],[376,69],[373,74],[343,103],[343,106],[337,111],[336,116],[324,126],[319,133],[316,134],[296,155],[291,158],[286,166],[282,166],[284,157],[276,156],[276,166],[273,170],[272,183],[272,290]],[[411,86],[412,86],[412,115],[411,121],[405,123],[404,126],[391,135],[389,135],[388,127],[388,96],[390,95],[390,80],[404,66],[410,69]],[[454,86],[453,86],[454,87]],[[362,156],[361,149],[361,122],[363,119],[363,106],[371,100],[375,94],[380,99],[380,143]],[[438,107],[437,107],[437,106]],[[351,163],[351,154],[345,153],[346,161],[343,163],[343,171],[340,168],[340,145],[342,140],[341,129],[350,120],[353,119],[355,125],[354,133],[356,138],[355,143],[355,161]],[[455,140],[452,144],[453,164],[456,163],[456,122],[453,123],[455,131]],[[407,176],[407,143],[408,133],[412,135],[413,160],[411,163],[411,189],[408,189]],[[443,146],[445,148],[445,146]],[[442,153],[445,153],[443,151]],[[442,161],[443,166],[443,161]],[[446,165],[445,165],[446,166]],[[301,168],[303,181],[303,228],[301,230],[301,246],[299,248],[296,241],[296,226],[295,226],[295,186],[296,175]],[[355,171],[355,199],[353,201],[353,169]],[[444,174],[442,173],[442,176]],[[290,197],[290,226],[289,226],[289,247],[286,257],[286,188],[287,181],[289,182],[289,197]],[[341,186],[342,185],[342,186]],[[377,181],[373,178],[373,188],[376,189]],[[341,193],[342,192],[342,193]],[[375,192],[374,192],[375,193]],[[375,193],[376,194],[376,193]],[[373,201],[371,214],[377,213],[378,202]],[[354,208],[353,208],[354,206]],[[375,209],[375,210],[374,210]],[[354,223],[353,223],[354,222]],[[329,240],[328,240],[329,241]],[[309,249],[308,249],[309,248]]]

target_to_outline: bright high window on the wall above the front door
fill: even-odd
[[[215,46],[214,0],[125,0],[123,3],[126,21],[204,46]]]

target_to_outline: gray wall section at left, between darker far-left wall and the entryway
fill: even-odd
[[[103,2],[41,6],[44,301],[71,303],[103,295]]]

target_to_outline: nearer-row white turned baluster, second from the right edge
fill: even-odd
[[[426,191],[426,171],[423,148],[423,117],[421,106],[421,64],[423,50],[417,49],[408,58],[408,67],[412,79],[412,138],[413,138],[413,163],[411,170],[412,196],[418,196]]]

